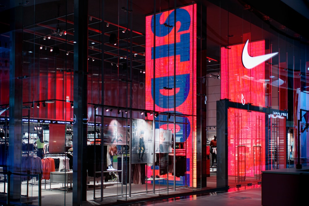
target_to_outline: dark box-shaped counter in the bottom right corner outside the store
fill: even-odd
[[[302,205],[308,183],[309,167],[262,171],[262,205]]]

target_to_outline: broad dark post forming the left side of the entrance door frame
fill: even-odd
[[[217,188],[228,187],[227,109],[229,100],[217,101]]]

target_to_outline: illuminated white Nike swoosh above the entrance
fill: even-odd
[[[271,54],[265,54],[265,55],[260,55],[260,56],[256,56],[256,57],[251,57],[248,54],[248,42],[249,42],[249,40],[246,41],[246,44],[243,47],[243,54],[242,54],[243,66],[247,69],[252,69],[253,67],[256,67],[257,65],[263,63],[264,61],[266,61],[266,60],[270,59],[271,57],[278,54],[278,52],[275,52],[275,53],[271,53]]]

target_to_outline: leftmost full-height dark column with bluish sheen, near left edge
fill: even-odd
[[[10,105],[9,105],[9,155],[8,171],[20,173],[21,171],[21,145],[22,145],[22,102],[23,102],[23,6],[18,1],[10,1]],[[20,199],[20,176],[11,175],[11,200]]]

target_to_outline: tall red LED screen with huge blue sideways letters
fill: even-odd
[[[176,115],[175,141],[186,145],[186,184],[190,186],[193,184],[192,144],[195,134],[195,118],[192,115],[196,116],[196,97],[193,95],[196,94],[195,72],[196,5],[147,16],[146,109],[153,110],[155,104],[155,111],[174,112],[175,107],[176,114],[188,115]],[[173,130],[173,118],[171,116],[167,124],[167,116],[159,115],[155,128]]]

